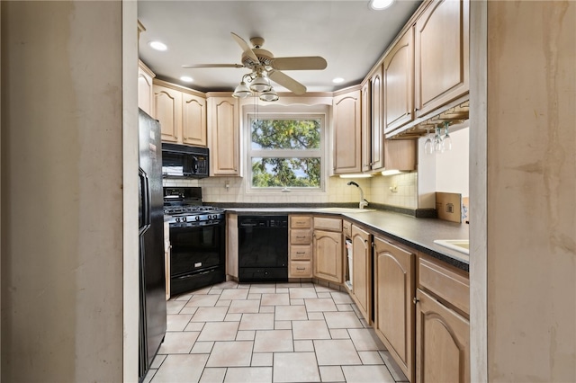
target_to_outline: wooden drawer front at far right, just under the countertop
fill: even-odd
[[[419,257],[419,287],[470,314],[470,280],[464,273],[448,269],[438,261]]]

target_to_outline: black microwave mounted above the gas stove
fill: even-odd
[[[208,147],[162,144],[164,178],[205,178],[210,172]]]

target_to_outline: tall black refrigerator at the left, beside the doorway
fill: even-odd
[[[160,123],[139,110],[139,380],[166,334]]]

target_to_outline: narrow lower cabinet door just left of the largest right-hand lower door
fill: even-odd
[[[365,230],[352,226],[352,293],[368,324],[372,323],[372,241]]]

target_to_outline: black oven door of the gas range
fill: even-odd
[[[202,272],[225,262],[225,222],[197,226],[170,227],[170,275]]]

